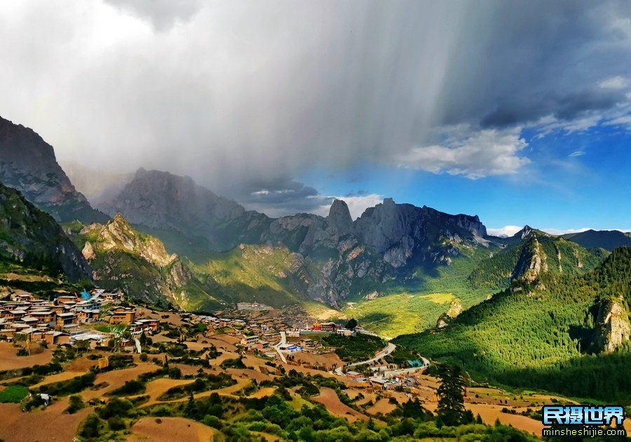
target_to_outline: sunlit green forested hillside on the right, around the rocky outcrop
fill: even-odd
[[[629,345],[613,354],[582,351],[592,336],[592,307],[612,297],[628,308],[631,248],[617,248],[584,275],[550,273],[531,285],[513,283],[446,328],[395,342],[493,382],[629,403]]]

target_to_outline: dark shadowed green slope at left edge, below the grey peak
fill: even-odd
[[[64,273],[70,281],[90,279],[88,263],[53,217],[1,184],[0,259],[43,265]]]

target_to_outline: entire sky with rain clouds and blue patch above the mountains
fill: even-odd
[[[0,116],[269,215],[631,229],[628,1],[0,2]]]

